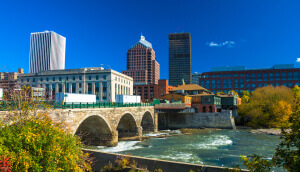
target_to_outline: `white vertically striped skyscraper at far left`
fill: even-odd
[[[30,36],[29,73],[65,69],[66,38],[53,32]]]

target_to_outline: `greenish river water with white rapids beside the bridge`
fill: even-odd
[[[244,168],[239,161],[240,155],[256,153],[271,158],[279,142],[279,136],[254,134],[249,130],[203,130],[191,135],[120,141],[117,147],[93,149],[194,164],[229,167],[239,164]]]

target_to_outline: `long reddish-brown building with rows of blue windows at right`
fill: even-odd
[[[200,86],[214,92],[228,93],[235,90],[249,92],[267,85],[294,87],[299,85],[300,68],[294,64],[279,64],[271,68],[245,69],[245,66],[214,67],[211,72],[203,72],[199,78]]]

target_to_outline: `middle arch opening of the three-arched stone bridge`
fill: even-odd
[[[118,122],[117,131],[119,138],[138,136],[136,119],[131,112],[125,112],[122,115]]]

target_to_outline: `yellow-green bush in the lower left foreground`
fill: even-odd
[[[0,157],[10,157],[12,171],[91,171],[79,137],[54,123],[47,110],[36,111],[33,101],[19,105],[0,121]]]

